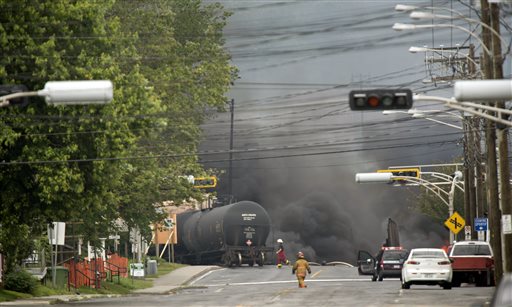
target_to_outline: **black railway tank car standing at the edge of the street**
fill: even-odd
[[[265,246],[270,217],[252,201],[185,212],[178,214],[176,220],[175,255],[179,262],[262,266],[266,254],[273,251]]]

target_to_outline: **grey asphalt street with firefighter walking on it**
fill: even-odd
[[[452,290],[412,286],[399,279],[372,282],[357,268],[312,266],[300,289],[291,268],[242,266],[211,271],[169,295],[138,295],[72,303],[80,306],[489,306],[494,287]]]

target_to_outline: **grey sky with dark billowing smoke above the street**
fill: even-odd
[[[418,188],[357,184],[355,174],[452,163],[462,155],[461,131],[407,114],[351,111],[348,93],[410,88],[451,97],[451,84],[429,81],[453,73],[453,67],[427,66],[425,56],[431,54],[413,54],[409,47],[478,42],[454,28],[394,31],[396,22],[432,23],[396,12],[396,1],[219,2],[233,12],[225,47],[239,69],[228,95],[234,101],[232,191],[237,200],[256,201],[269,212],[269,244],[282,238],[290,253],[354,263],[358,250],[378,251],[392,218],[405,247],[443,245],[444,226],[411,209]],[[468,3],[403,4],[477,18]],[[432,102],[414,107],[445,110]],[[450,117],[442,120],[460,125]],[[229,112],[216,114],[203,130],[201,150],[220,153],[200,158],[224,172],[217,190],[222,195],[229,191]]]

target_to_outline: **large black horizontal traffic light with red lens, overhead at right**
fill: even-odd
[[[412,91],[409,89],[353,90],[349,93],[353,111],[410,109]]]

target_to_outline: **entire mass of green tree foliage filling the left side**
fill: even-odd
[[[209,172],[199,125],[236,75],[228,16],[196,0],[0,0],[1,84],[115,88],[108,105],[0,109],[1,253],[23,259],[51,221],[81,222],[93,242],[119,218],[147,236],[155,204],[200,196],[180,176]]]

